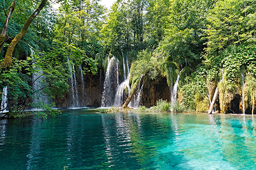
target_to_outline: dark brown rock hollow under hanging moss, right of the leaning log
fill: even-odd
[[[157,101],[160,99],[170,102],[170,91],[166,78],[157,77],[156,80],[148,82],[150,83],[144,83],[142,92],[141,103],[143,106],[147,108],[156,106]]]

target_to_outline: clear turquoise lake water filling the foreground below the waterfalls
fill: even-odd
[[[0,169],[256,169],[256,117],[65,111],[0,120]]]

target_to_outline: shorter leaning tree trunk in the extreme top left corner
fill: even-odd
[[[7,29],[8,29],[8,24],[9,24],[11,15],[12,15],[14,9],[15,9],[16,2],[17,2],[17,0],[13,0],[12,4],[8,8],[8,13],[7,14],[5,13],[6,14],[6,18],[5,18],[5,22],[4,22],[4,25],[3,25],[2,34],[0,35],[0,52],[1,52],[1,50],[2,50],[2,48],[4,46],[4,44],[5,44],[5,36],[6,36]],[[3,2],[3,3],[5,3],[5,2]],[[4,4],[3,4],[3,8],[5,8]]]

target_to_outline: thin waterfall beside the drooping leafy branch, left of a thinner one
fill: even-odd
[[[69,84],[70,84],[70,91],[71,91],[71,100],[70,100],[70,106],[71,107],[76,107],[78,106],[78,93],[77,93],[77,82],[76,82],[76,74],[75,74],[75,66],[74,64],[70,63],[69,58],[68,59],[68,66],[69,66],[69,71],[70,71],[70,76],[71,79],[69,79]]]

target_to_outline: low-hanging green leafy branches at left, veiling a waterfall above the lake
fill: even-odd
[[[50,99],[54,99],[56,95],[60,98],[64,92],[69,89],[70,74],[73,74],[72,65],[82,65],[82,72],[91,71],[93,74],[97,72],[97,63],[86,56],[83,50],[64,44],[61,42],[53,42],[52,48],[47,52],[36,52],[36,54],[27,57],[27,60],[14,60],[10,70],[6,70],[1,74],[1,88],[8,86],[8,108],[10,116],[26,115],[25,108],[33,106],[43,109],[46,112],[35,112],[35,115],[41,115],[46,118],[47,115],[59,114],[60,111],[52,109],[55,104],[49,105],[38,101],[37,103],[22,105],[28,98],[39,99],[40,96],[46,95]],[[33,63],[33,64],[31,64]],[[24,74],[26,72],[26,74]],[[40,84],[40,89],[36,90],[30,86],[31,79],[29,75],[37,73],[41,78],[36,81]],[[32,85],[35,82],[32,82]]]

